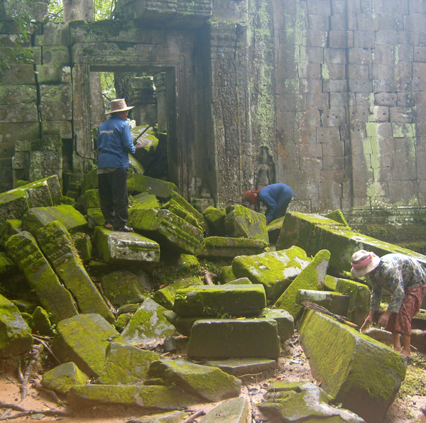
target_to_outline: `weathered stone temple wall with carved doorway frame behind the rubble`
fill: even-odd
[[[426,1],[121,0],[110,29],[29,4],[34,62],[0,75],[0,190],[17,141],[60,136],[62,168],[88,169],[87,72],[143,65],[175,77],[172,175],[188,199],[202,186],[222,207],[285,182],[302,212],[425,214]]]

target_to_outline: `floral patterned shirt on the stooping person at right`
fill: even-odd
[[[392,294],[388,311],[398,313],[403,304],[405,289],[425,285],[426,269],[413,258],[402,254],[386,254],[380,264],[366,275],[371,282],[371,311],[378,311],[385,288]]]

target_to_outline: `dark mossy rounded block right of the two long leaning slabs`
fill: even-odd
[[[102,289],[114,306],[143,302],[148,297],[140,278],[129,270],[117,270],[102,278]]]

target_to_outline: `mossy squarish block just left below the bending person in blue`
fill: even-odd
[[[244,206],[233,206],[226,209],[224,221],[225,234],[232,238],[251,238],[269,242],[266,230],[266,217]]]

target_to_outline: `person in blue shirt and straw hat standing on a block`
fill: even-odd
[[[133,107],[128,107],[125,99],[112,100],[111,110],[106,113],[111,114],[111,118],[99,125],[97,131],[97,175],[104,226],[123,232],[133,232],[126,226],[129,219],[129,153],[135,152],[129,123],[126,122],[131,109]]]

